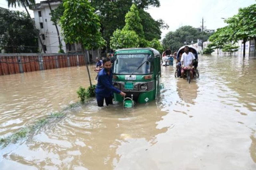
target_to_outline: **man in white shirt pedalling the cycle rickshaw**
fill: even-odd
[[[188,46],[185,46],[184,51],[185,52],[182,54],[181,59],[180,59],[180,62],[182,65],[181,76],[183,78],[184,78],[185,70],[188,69],[188,67],[192,67],[193,60],[196,59],[195,56],[193,55],[193,53],[189,52]],[[192,79],[194,77],[193,76],[194,72],[195,72],[194,69],[190,70],[190,72],[189,72],[190,79]]]

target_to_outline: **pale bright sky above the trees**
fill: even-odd
[[[40,0],[36,0],[39,3]],[[190,25],[199,27],[202,25],[207,29],[217,29],[225,26],[223,19],[232,17],[239,8],[255,4],[255,0],[160,0],[159,8],[149,7],[147,10],[154,19],[163,19],[170,28],[162,30],[162,38],[169,31],[175,31],[180,26]],[[0,0],[0,7],[8,8],[6,0]],[[15,8],[10,8],[15,10]],[[17,8],[25,11],[25,9]],[[33,17],[33,11],[30,11]]]

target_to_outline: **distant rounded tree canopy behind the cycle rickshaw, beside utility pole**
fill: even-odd
[[[177,51],[181,46],[196,43],[197,39],[207,41],[210,34],[200,32],[192,26],[182,26],[176,31],[170,31],[163,39],[164,48],[169,48],[172,51]]]

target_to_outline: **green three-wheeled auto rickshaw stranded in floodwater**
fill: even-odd
[[[113,85],[126,93],[124,99],[114,93],[124,107],[155,100],[160,93],[160,53],[153,48],[124,48],[113,56]],[[126,100],[130,99],[130,100]]]

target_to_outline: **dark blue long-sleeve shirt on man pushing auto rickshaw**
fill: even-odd
[[[105,69],[100,70],[98,74],[98,84],[96,86],[95,93],[101,97],[110,97],[114,93],[120,93],[121,91],[112,85],[113,73],[110,70],[108,75]]]

